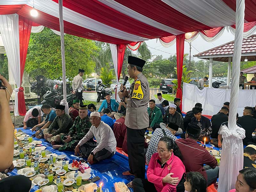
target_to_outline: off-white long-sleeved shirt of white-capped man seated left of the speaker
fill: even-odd
[[[87,132],[84,138],[79,141],[78,145],[82,146],[93,136],[97,140],[97,147],[92,150],[94,155],[103,148],[107,149],[111,153],[116,153],[116,138],[114,132],[103,121],[100,122],[100,125],[97,128],[92,125],[89,132]]]

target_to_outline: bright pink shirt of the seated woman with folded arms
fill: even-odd
[[[163,178],[169,174],[174,173],[172,177],[178,177],[179,179],[185,174],[185,166],[179,157],[174,156],[173,153],[170,159],[164,164],[163,168],[161,164],[161,158],[158,153],[154,153],[149,161],[147,178],[148,181],[154,183],[157,192],[176,192],[176,185],[171,185],[169,183],[163,183]]]

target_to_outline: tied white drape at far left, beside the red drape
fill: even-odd
[[[20,35],[19,15],[0,15],[0,32],[3,37],[5,52],[10,65],[14,81],[20,87]],[[18,92],[15,92],[14,115],[19,115]]]

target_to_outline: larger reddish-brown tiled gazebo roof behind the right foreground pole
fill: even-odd
[[[230,41],[226,44],[198,53],[194,55],[194,57],[207,60],[213,58],[215,61],[228,62],[228,57],[232,57],[233,52],[234,41]],[[247,58],[248,61],[256,60],[256,35],[243,39],[241,61],[244,61],[245,58]]]

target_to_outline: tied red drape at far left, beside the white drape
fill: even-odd
[[[19,16],[19,35],[20,35],[20,88],[18,92],[18,109],[21,116],[26,114],[26,105],[24,98],[24,89],[21,87],[22,77],[24,73],[28,43],[31,33],[32,21]]]

